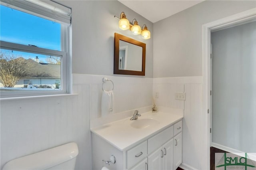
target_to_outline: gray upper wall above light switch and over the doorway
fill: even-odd
[[[256,7],[256,1],[206,0],[154,23],[153,77],[202,75],[202,25]]]

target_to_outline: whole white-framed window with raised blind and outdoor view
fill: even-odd
[[[68,92],[70,15],[52,1],[1,0],[1,97]]]

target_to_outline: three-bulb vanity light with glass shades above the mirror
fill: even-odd
[[[124,14],[124,12],[121,12],[120,18],[118,18],[117,16],[114,16],[114,17],[119,20],[119,28],[121,30],[128,30],[128,29],[130,29],[132,31],[133,35],[140,35],[141,34],[141,36],[142,36],[142,38],[144,40],[150,39],[150,31],[148,31],[148,28],[147,28],[147,26],[145,24],[143,25],[144,28],[142,26],[142,29],[141,29],[140,26],[138,25],[137,20],[133,19],[132,22],[130,22],[126,18],[126,15]],[[134,24],[133,24],[133,21],[134,21]]]

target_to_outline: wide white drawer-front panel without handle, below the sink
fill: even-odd
[[[148,154],[162,146],[167,140],[173,137],[173,126],[148,139]]]

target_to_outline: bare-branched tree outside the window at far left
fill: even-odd
[[[22,57],[0,52],[0,82],[4,87],[14,87],[21,77],[27,75],[26,67]]]

